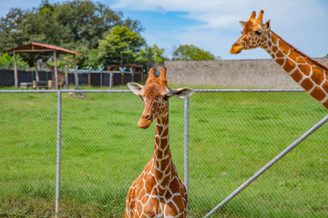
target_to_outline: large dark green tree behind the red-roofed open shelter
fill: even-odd
[[[43,0],[37,8],[22,10],[12,8],[0,20],[0,52],[38,42],[65,47],[86,54],[98,47],[98,42],[114,26],[127,26],[134,32],[143,31],[138,20],[123,19],[121,12],[89,0],[64,1],[50,4]],[[22,55],[23,56],[23,55]],[[24,55],[29,64],[32,56]],[[86,55],[77,58],[78,65],[85,65]]]

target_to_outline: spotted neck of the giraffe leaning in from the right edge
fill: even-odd
[[[308,94],[328,109],[328,68],[302,54],[279,35],[270,31],[265,45],[261,46],[280,64],[292,79],[300,84]]]

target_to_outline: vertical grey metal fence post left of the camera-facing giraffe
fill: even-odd
[[[57,92],[57,143],[56,143],[56,217],[59,214],[60,200],[60,170],[61,170],[61,120],[62,120],[62,93]]]

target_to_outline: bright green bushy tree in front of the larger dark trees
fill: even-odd
[[[108,64],[133,64],[138,61],[138,52],[144,39],[137,32],[131,31],[127,26],[115,26],[109,35],[99,40],[97,63]],[[92,58],[92,57],[91,57]]]

